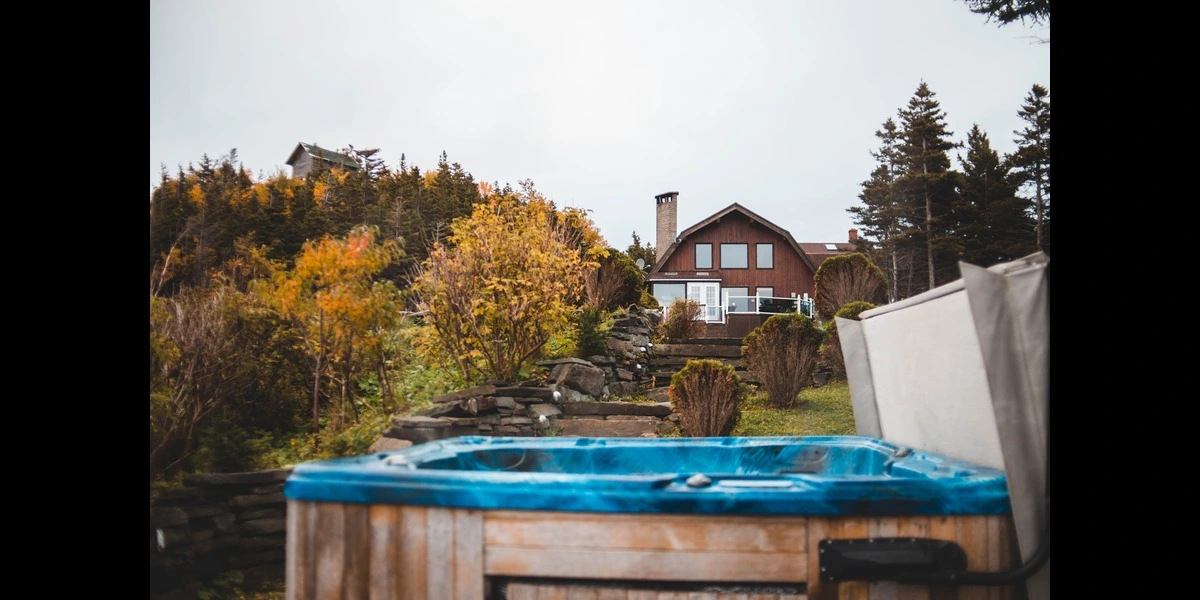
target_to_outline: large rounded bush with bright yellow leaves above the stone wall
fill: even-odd
[[[436,336],[426,348],[463,377],[515,380],[568,326],[583,274],[604,248],[587,214],[558,211],[540,194],[493,194],[455,220],[413,290]]]

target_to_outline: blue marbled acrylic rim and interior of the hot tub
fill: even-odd
[[[598,512],[1009,511],[1000,470],[850,436],[462,437],[299,464],[284,494],[312,502]]]

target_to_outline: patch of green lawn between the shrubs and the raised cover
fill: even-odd
[[[766,394],[755,394],[742,404],[734,436],[853,436],[854,412],[850,385],[832,382],[800,392],[792,408],[772,408]]]

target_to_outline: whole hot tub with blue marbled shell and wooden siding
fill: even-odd
[[[823,581],[828,540],[1013,560],[1002,472],[872,438],[462,437],[299,464],[284,496],[289,599],[1012,593]]]

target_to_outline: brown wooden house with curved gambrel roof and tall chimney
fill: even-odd
[[[709,337],[740,337],[780,312],[811,314],[814,275],[824,259],[853,251],[848,242],[799,244],[786,229],[733,203],[676,234],[678,192],[655,197],[659,259],[650,293],[703,307]],[[857,236],[850,230],[850,239]]]

